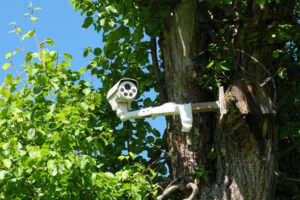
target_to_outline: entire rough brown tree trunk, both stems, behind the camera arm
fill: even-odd
[[[185,185],[193,182],[196,177],[194,171],[203,167],[208,171],[209,180],[198,184],[199,193],[195,199],[259,200],[272,199],[274,195],[277,165],[274,115],[264,114],[265,108],[273,109],[268,96],[274,90],[272,84],[268,84],[269,92],[265,94],[256,81],[262,82],[269,72],[273,72],[272,51],[276,46],[266,44],[263,36],[276,24],[272,15],[284,6],[263,6],[252,1],[243,6],[238,13],[223,6],[213,8],[196,0],[178,3],[160,37],[169,102],[216,100],[198,84],[199,77],[206,73],[209,55],[206,53],[207,56],[201,56],[201,59],[197,57],[206,51],[208,44],[216,42],[214,32],[218,31],[218,27],[212,28],[214,25],[210,22],[217,21],[220,16],[233,17],[235,22],[228,25],[234,28],[228,38],[221,39],[236,48],[233,52],[240,51],[236,53],[240,73],[229,76],[232,85],[226,92],[228,114],[221,122],[212,113],[195,114],[192,131],[183,133],[179,117],[167,118],[164,138],[171,155],[170,174],[173,184],[179,184],[181,191],[175,199],[183,199],[191,193],[185,190]],[[284,16],[280,14],[280,17]],[[254,62],[253,58],[261,63]],[[243,77],[246,78],[244,81],[234,83]],[[248,78],[255,81],[248,81]],[[212,147],[216,153],[213,162],[207,159]]]

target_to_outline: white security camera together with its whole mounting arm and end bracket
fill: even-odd
[[[165,103],[157,107],[143,108],[130,111],[131,102],[137,95],[137,81],[131,78],[123,78],[117,82],[107,93],[107,99],[117,116],[126,121],[129,119],[142,119],[147,117],[180,115],[182,131],[189,132],[193,126],[193,112],[219,111],[220,116],[227,113],[224,98],[224,89],[219,87],[219,101],[204,103],[176,104]]]

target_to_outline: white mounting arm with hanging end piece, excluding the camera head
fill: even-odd
[[[193,124],[193,114],[191,104],[176,104],[176,103],[165,103],[158,107],[149,107],[141,110],[120,114],[120,119],[126,121],[128,119],[137,118],[155,118],[157,116],[165,115],[178,115],[180,114],[182,130],[183,132],[189,132]]]

